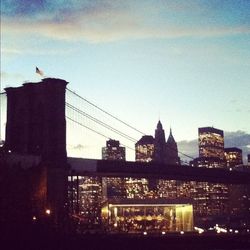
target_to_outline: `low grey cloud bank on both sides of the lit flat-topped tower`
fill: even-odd
[[[250,154],[250,134],[244,131],[225,132],[225,147],[237,147],[242,149],[243,160],[246,164],[247,154]],[[198,139],[178,142],[178,150],[191,157],[198,157]],[[190,161],[190,158],[179,154],[184,161]]]

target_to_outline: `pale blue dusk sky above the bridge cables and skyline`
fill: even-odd
[[[1,1],[1,91],[36,66],[146,134],[250,133],[248,0]]]

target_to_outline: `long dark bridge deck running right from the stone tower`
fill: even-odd
[[[156,163],[106,161],[68,158],[71,174],[103,177],[159,178],[180,181],[206,181],[227,184],[250,184],[250,172],[227,169],[196,168]]]

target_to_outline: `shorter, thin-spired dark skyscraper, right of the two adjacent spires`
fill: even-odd
[[[170,165],[179,165],[180,158],[178,156],[177,143],[172,134],[172,129],[170,129],[169,137],[166,143],[167,150],[167,163]]]

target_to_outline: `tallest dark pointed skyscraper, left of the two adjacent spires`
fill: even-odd
[[[158,163],[167,163],[165,131],[162,128],[162,124],[160,121],[158,121],[155,130],[154,161]]]

